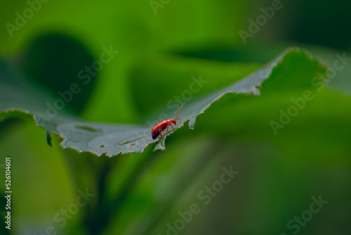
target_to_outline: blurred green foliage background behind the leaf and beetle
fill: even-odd
[[[238,80],[291,46],[329,64],[336,53],[351,55],[345,0],[282,1],[244,44],[239,30],[248,31],[249,19],[274,2],[2,0],[0,54],[53,94],[80,82],[84,89],[65,108],[72,115],[144,123],[192,76],[213,82],[201,95],[217,89],[217,79]],[[15,25],[17,13],[30,16],[27,8],[32,16],[9,32],[6,24]],[[119,53],[83,85],[77,73],[110,46]],[[200,115],[194,130],[185,125],[169,136],[166,151],[152,152],[153,145],[143,154],[98,158],[63,150],[55,135],[48,146],[30,117],[4,120],[0,174],[4,179],[1,164],[11,156],[13,217],[11,231],[1,225],[1,234],[350,234],[350,71],[346,65],[277,135],[269,121],[303,90],[235,106],[223,101]],[[205,205],[198,194],[230,166],[239,173]],[[72,205],[86,190],[94,196]],[[328,203],[308,217],[319,197]],[[194,203],[201,212],[169,229]],[[289,227],[301,216],[308,220]]]

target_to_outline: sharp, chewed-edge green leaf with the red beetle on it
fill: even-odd
[[[0,63],[0,72],[0,120],[8,115],[20,115],[20,113],[33,115],[37,125],[46,129],[48,144],[51,140],[49,134],[55,133],[63,139],[60,144],[63,148],[73,148],[79,152],[105,154],[111,157],[119,153],[143,153],[147,146],[158,141],[158,139],[152,139],[152,127],[147,127],[147,125],[86,122],[69,115],[65,113],[65,102],[62,99],[52,96],[39,85],[30,84],[6,63]],[[300,49],[286,50],[282,55],[244,79],[211,93],[194,97],[180,111],[178,118],[182,120],[182,124],[178,128],[183,127],[184,123],[189,121],[188,125],[190,129],[193,129],[197,116],[219,100],[225,102],[227,99],[242,98],[242,95],[238,96],[238,94],[259,95],[259,87],[268,78],[274,79],[267,87],[263,85],[264,92],[275,92],[277,87],[274,87],[274,84],[277,83],[280,86],[279,89],[282,90],[309,86],[310,78],[319,72],[325,72],[324,65],[313,59],[309,53]],[[284,76],[289,79],[282,82]],[[161,111],[164,112],[164,119],[175,118],[174,113],[178,112],[178,108],[175,107],[175,110],[164,108],[151,115],[148,120],[157,120]],[[173,132],[171,129],[170,133]],[[166,136],[163,136],[155,149],[165,149],[165,140]]]

